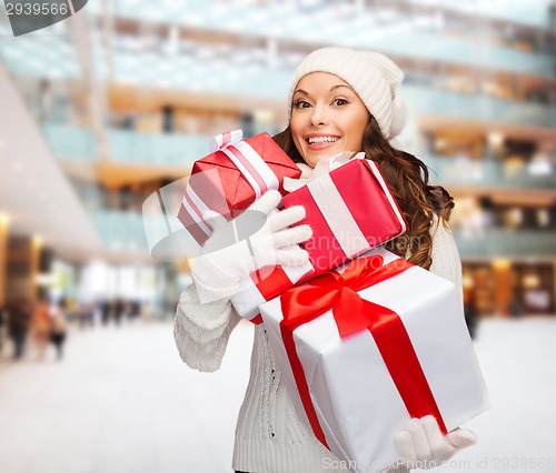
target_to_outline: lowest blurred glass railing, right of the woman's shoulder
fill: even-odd
[[[556,230],[454,229],[461,258],[553,256]]]

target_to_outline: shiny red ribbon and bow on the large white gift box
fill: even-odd
[[[330,309],[341,338],[369,330],[409,415],[420,419],[431,414],[440,430],[447,432],[404,322],[396,312],[366,301],[357,293],[413,266],[401,258],[385,265],[383,263],[380,255],[353,260],[341,274],[329,271],[281,295],[284,320],[280,332],[284,345],[312,431],[327,449],[297,355],[294,331]]]

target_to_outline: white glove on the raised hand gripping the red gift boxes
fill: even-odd
[[[192,262],[200,301],[212,302],[236,293],[239,281],[265,266],[302,265],[307,251],[297,246],[312,234],[309,225],[288,228],[305,217],[300,205],[277,211],[281,195],[268,191],[241,215],[227,221],[216,212],[203,218],[214,233]]]

